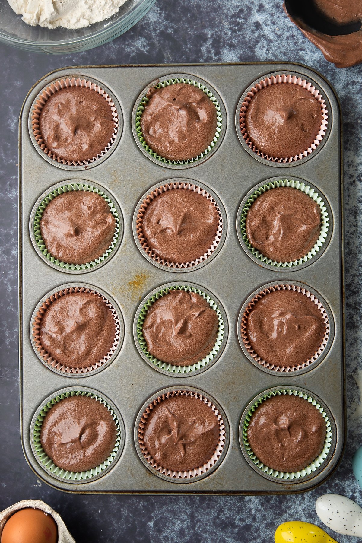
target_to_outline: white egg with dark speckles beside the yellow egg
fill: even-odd
[[[315,502],[322,522],[339,534],[362,538],[362,509],[350,498],[339,494],[324,494]]]

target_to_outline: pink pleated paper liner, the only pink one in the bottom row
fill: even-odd
[[[144,440],[143,440],[144,426],[145,426],[145,421],[147,420],[149,413],[157,405],[157,403],[161,403],[163,400],[166,400],[167,398],[173,397],[173,396],[194,396],[195,398],[199,398],[201,402],[206,403],[206,405],[208,405],[212,409],[212,411],[215,413],[215,416],[217,416],[217,419],[219,421],[219,441],[218,441],[217,448],[213,456],[208,460],[208,462],[204,464],[203,466],[201,466],[200,468],[195,468],[189,471],[171,471],[166,468],[162,468],[162,466],[157,464],[157,462],[151,457],[150,453],[148,452],[144,444]],[[225,438],[226,438],[226,432],[225,432],[224,420],[221,416],[221,413],[219,413],[217,407],[215,407],[213,403],[209,401],[206,397],[202,396],[201,394],[191,392],[190,390],[173,390],[173,392],[167,392],[165,394],[162,394],[162,396],[158,396],[145,409],[141,417],[141,421],[139,422],[139,425],[138,425],[138,443],[139,443],[139,448],[141,449],[141,452],[145,460],[148,462],[148,464],[152,466],[152,468],[162,473],[162,475],[167,475],[175,479],[189,479],[189,478],[201,475],[202,473],[205,473],[205,471],[210,469],[211,466],[213,466],[217,462],[217,460],[219,459],[221,455],[221,452],[224,449]]]

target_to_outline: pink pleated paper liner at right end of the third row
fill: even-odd
[[[324,321],[324,324],[325,324],[325,327],[326,327],[326,331],[325,331],[325,334],[323,336],[322,342],[321,342],[321,344],[319,346],[319,349],[314,353],[314,355],[312,357],[308,358],[308,360],[306,360],[306,362],[303,362],[302,364],[297,364],[295,366],[281,367],[281,366],[276,366],[274,364],[271,364],[269,362],[265,362],[265,360],[263,360],[255,352],[255,350],[252,348],[252,346],[249,343],[249,337],[247,335],[247,317],[248,317],[249,313],[253,310],[253,307],[255,306],[255,304],[257,303],[258,300],[260,300],[266,294],[270,294],[271,292],[275,292],[275,291],[296,291],[296,292],[301,292],[302,294],[306,295],[308,298],[310,298],[310,300],[312,300],[314,302],[314,304],[319,308],[319,310],[320,310],[320,312],[322,314],[323,321]],[[322,303],[319,301],[319,299],[314,294],[307,291],[305,288],[301,288],[301,287],[296,286],[296,285],[275,285],[273,287],[265,288],[264,291],[259,292],[256,296],[254,296],[254,298],[252,298],[250,300],[249,304],[247,304],[247,306],[245,308],[245,311],[244,311],[244,314],[243,314],[243,317],[242,317],[240,327],[241,327],[241,337],[242,337],[243,344],[245,345],[245,348],[246,348],[247,352],[250,354],[250,356],[252,358],[254,358],[255,361],[258,362],[260,365],[262,365],[264,368],[269,368],[269,369],[275,370],[275,371],[296,371],[296,370],[300,370],[302,368],[306,368],[309,364],[314,362],[321,355],[322,351],[325,349],[325,346],[327,345],[327,341],[328,341],[328,337],[329,337],[328,315],[327,315],[327,312],[326,312],[325,308],[323,307]]]

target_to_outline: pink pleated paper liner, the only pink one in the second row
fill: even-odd
[[[167,260],[164,260],[163,258],[158,256],[153,250],[151,250],[148,247],[147,241],[143,237],[142,219],[143,219],[144,212],[147,209],[147,206],[150,204],[150,202],[154,198],[156,198],[158,196],[158,194],[161,194],[162,192],[171,191],[171,190],[174,190],[176,188],[183,188],[183,189],[193,191],[193,192],[197,192],[198,194],[201,194],[202,196],[204,196],[205,198],[207,198],[209,201],[211,201],[214,204],[215,208],[218,211],[218,215],[219,215],[219,225],[218,225],[218,229],[217,229],[217,232],[216,232],[216,235],[215,235],[215,238],[214,238],[214,241],[213,241],[211,247],[205,252],[204,255],[200,255],[199,258],[196,258],[196,260],[193,260],[191,262],[176,262],[175,263],[175,262],[169,262]],[[136,217],[136,233],[137,233],[137,238],[138,238],[139,244],[141,245],[144,252],[149,257],[153,258],[153,260],[155,262],[157,262],[158,264],[163,264],[163,266],[168,266],[169,268],[191,268],[193,266],[196,266],[196,264],[200,264],[201,262],[206,260],[206,258],[211,256],[212,253],[214,252],[214,250],[218,247],[218,244],[219,244],[220,239],[221,239],[221,234],[223,233],[223,217],[221,216],[221,211],[219,209],[219,206],[218,206],[217,202],[213,199],[213,197],[204,188],[198,187],[197,185],[193,185],[193,184],[190,184],[190,183],[185,183],[185,182],[180,183],[179,181],[177,181],[175,183],[167,183],[165,185],[161,185],[160,187],[155,188],[143,200],[141,206],[139,206],[137,217]]]

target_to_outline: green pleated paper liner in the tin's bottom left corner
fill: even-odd
[[[96,466],[96,468],[92,468],[91,470],[75,472],[75,471],[66,471],[61,468],[58,468],[58,466],[54,464],[53,460],[47,456],[47,454],[43,450],[40,443],[40,431],[41,431],[41,426],[45,418],[45,415],[47,414],[49,409],[51,409],[55,405],[55,403],[58,403],[61,400],[68,398],[69,396],[88,396],[88,397],[94,398],[97,401],[100,401],[108,409],[108,411],[110,411],[117,427],[117,439],[110,456],[106,460],[104,460],[102,464],[100,464],[99,466]],[[35,454],[37,458],[40,460],[43,467],[46,470],[50,471],[50,473],[52,473],[53,475],[56,475],[57,477],[60,477],[62,479],[66,479],[67,481],[70,481],[70,482],[84,481],[86,479],[91,479],[92,477],[99,475],[99,473],[103,472],[106,468],[108,468],[108,466],[113,462],[113,460],[116,457],[116,454],[120,445],[120,440],[121,440],[120,425],[119,425],[119,421],[117,419],[116,413],[113,411],[112,407],[108,405],[107,402],[103,400],[100,396],[97,396],[96,394],[92,394],[91,392],[86,392],[84,390],[72,390],[72,392],[62,393],[59,396],[55,396],[52,400],[49,400],[48,403],[46,403],[46,405],[40,409],[35,419],[34,429],[33,429],[33,444],[34,444]]]

